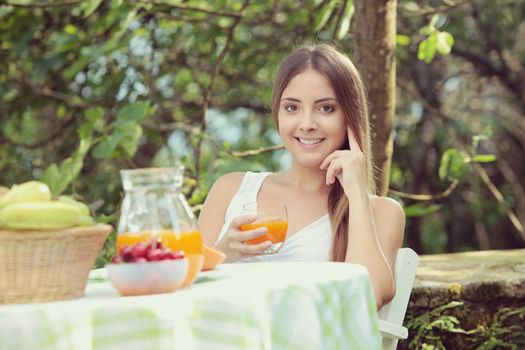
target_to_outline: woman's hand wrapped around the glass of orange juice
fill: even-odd
[[[228,231],[215,243],[215,248],[226,254],[225,262],[236,262],[250,256],[262,254],[265,249],[270,248],[272,243],[265,241],[259,244],[247,244],[246,241],[264,236],[266,227],[258,227],[255,230],[241,231],[240,226],[254,222],[254,215],[237,216],[232,220]]]

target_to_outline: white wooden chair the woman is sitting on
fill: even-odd
[[[403,320],[418,264],[419,256],[416,252],[410,248],[399,249],[394,266],[396,295],[389,304],[379,310],[379,331],[383,337],[383,350],[395,350],[399,339],[408,337],[408,329],[403,327]]]

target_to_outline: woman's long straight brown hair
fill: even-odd
[[[346,124],[355,135],[367,163],[368,191],[375,193],[370,143],[370,125],[366,93],[359,72],[350,59],[328,44],[309,44],[296,49],[281,63],[273,86],[272,113],[279,127],[281,96],[296,75],[314,69],[330,82],[342,108]],[[341,149],[348,149],[346,142]],[[331,258],[344,261],[348,245],[348,199],[338,181],[328,196],[328,212],[332,225]]]

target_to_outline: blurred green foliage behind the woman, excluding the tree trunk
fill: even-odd
[[[220,175],[287,167],[276,68],[305,41],[352,57],[353,6],[0,1],[0,184],[42,179],[115,224],[119,170],[183,164],[198,214]],[[525,247],[523,18],[525,0],[398,1],[389,195],[419,254]]]

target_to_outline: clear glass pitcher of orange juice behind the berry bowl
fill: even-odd
[[[121,170],[120,175],[125,193],[117,253],[124,245],[147,244],[151,240],[158,240],[171,250],[183,250],[190,260],[191,283],[204,259],[201,233],[180,191],[184,167]]]

